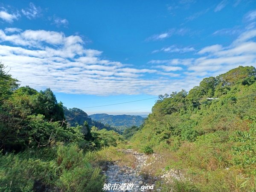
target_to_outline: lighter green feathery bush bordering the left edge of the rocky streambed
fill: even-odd
[[[75,144],[60,145],[57,160],[63,170],[58,186],[68,192],[101,191],[105,176],[98,168],[93,169],[86,155]]]

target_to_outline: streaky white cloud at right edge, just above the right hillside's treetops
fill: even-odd
[[[206,57],[195,59],[188,70],[195,72],[222,73],[239,65],[256,66],[256,43],[248,41],[256,36],[254,30],[242,33],[230,46],[213,45],[201,49],[198,53],[208,53]]]

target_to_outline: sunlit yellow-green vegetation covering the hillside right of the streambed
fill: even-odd
[[[190,178],[177,191],[256,191],[255,115],[256,69],[240,66],[160,95],[132,142],[162,151],[160,164]]]

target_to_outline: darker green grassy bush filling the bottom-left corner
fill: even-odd
[[[0,155],[0,191],[29,192],[34,187],[51,189],[60,173],[57,163],[28,158],[29,152]]]

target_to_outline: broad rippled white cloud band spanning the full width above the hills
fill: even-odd
[[[239,65],[256,66],[255,30],[242,33],[229,46],[209,45],[191,58],[151,60],[144,68],[104,59],[102,51],[85,48],[78,35],[45,30],[14,30],[14,34],[9,31],[12,29],[0,30],[0,58],[11,67],[9,73],[22,85],[50,87],[55,92],[158,95],[182,88],[189,90],[204,77]],[[172,47],[175,51],[185,47],[176,48]]]

